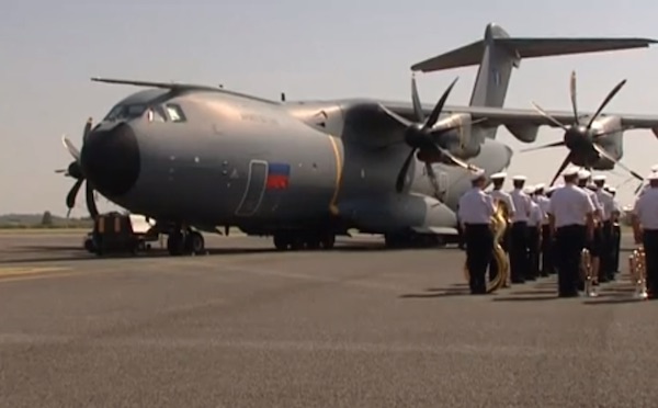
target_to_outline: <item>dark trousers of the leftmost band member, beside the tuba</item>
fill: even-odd
[[[494,250],[494,233],[488,224],[466,224],[466,267],[470,275],[470,293],[487,293],[486,274]]]

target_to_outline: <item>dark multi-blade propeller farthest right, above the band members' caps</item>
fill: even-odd
[[[621,163],[619,160],[616,160],[614,157],[612,157],[597,141],[599,138],[601,138],[601,137],[603,137],[605,135],[609,135],[609,134],[614,133],[614,132],[619,132],[619,129],[600,132],[599,129],[593,128],[593,124],[597,121],[597,118],[601,115],[601,112],[603,112],[603,110],[605,109],[605,106],[608,106],[608,104],[610,103],[610,101],[612,101],[612,99],[617,94],[617,92],[625,84],[626,84],[626,80],[624,79],[620,83],[617,83],[608,93],[608,95],[605,97],[605,99],[603,100],[603,102],[601,102],[601,105],[599,106],[599,109],[597,110],[597,112],[590,117],[590,120],[589,120],[589,122],[587,124],[583,124],[581,122],[582,115],[579,115],[579,113],[578,113],[578,102],[577,102],[577,98],[576,98],[576,95],[577,95],[577,90],[576,90],[576,71],[571,71],[571,78],[570,78],[570,81],[569,81],[569,94],[570,94],[570,99],[571,99],[571,110],[574,112],[574,123],[571,125],[566,125],[566,124],[559,122],[557,118],[551,116],[551,114],[548,114],[546,111],[544,111],[542,107],[540,107],[540,105],[537,105],[534,102],[532,103],[533,107],[542,116],[546,117],[553,124],[555,124],[556,126],[560,127],[563,131],[565,131],[565,136],[564,136],[563,141],[555,141],[555,143],[552,143],[552,144],[548,144],[548,145],[533,147],[533,148],[524,149],[524,150],[521,150],[521,151],[522,152],[524,152],[524,151],[533,151],[533,150],[540,150],[540,149],[545,149],[545,148],[551,148],[551,147],[559,147],[559,146],[566,146],[569,149],[569,154],[564,159],[564,161],[560,163],[560,166],[559,166],[557,172],[555,173],[555,177],[551,181],[549,185],[553,185],[555,183],[555,181],[557,180],[557,178],[559,177],[559,174],[565,170],[565,168],[569,163],[574,162],[574,160],[576,159],[577,155],[579,155],[581,152],[589,152],[592,149],[598,154],[599,157],[603,157],[603,158],[612,161],[616,166],[619,166],[622,169],[624,169],[627,172],[629,172],[634,178],[644,181],[644,178],[642,175],[639,175],[637,172],[631,170],[629,168],[627,168],[626,166],[624,166],[623,163]]]

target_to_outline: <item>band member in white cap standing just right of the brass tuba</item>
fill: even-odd
[[[523,192],[525,175],[515,175],[512,179],[514,190],[510,192],[514,203],[514,216],[512,217],[512,231],[510,242],[510,275],[512,283],[523,283],[530,275],[527,260],[527,219],[532,200]]]

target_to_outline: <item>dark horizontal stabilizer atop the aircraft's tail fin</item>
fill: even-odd
[[[657,39],[627,37],[510,37],[501,27],[491,23],[487,25],[484,39],[415,64],[411,66],[411,70],[431,72],[478,65],[483,59],[485,48],[492,44],[506,49],[510,56],[520,60],[522,58],[646,48],[656,43],[658,43]]]

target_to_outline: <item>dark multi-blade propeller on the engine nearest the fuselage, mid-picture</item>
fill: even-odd
[[[441,95],[441,99],[439,99],[439,101],[436,102],[436,105],[430,113],[430,116],[426,118],[422,105],[420,103],[420,98],[418,95],[416,77],[411,77],[411,101],[413,104],[413,114],[418,121],[417,123],[409,122],[405,117],[401,117],[395,112],[392,112],[384,105],[381,106],[384,110],[384,112],[386,112],[386,114],[388,114],[390,117],[395,118],[397,122],[407,127],[407,129],[405,131],[405,143],[409,147],[411,147],[397,175],[395,188],[398,193],[401,192],[405,188],[405,178],[407,175],[407,172],[409,171],[411,159],[413,158],[413,155],[417,151],[420,152],[418,158],[424,161],[428,177],[432,183],[432,188],[435,191],[438,190],[436,175],[434,173],[434,170],[432,169],[431,162],[429,160],[423,160],[423,156],[439,156],[441,158],[441,161],[446,162],[449,165],[458,166],[470,171],[479,170],[477,167],[456,158],[454,155],[452,155],[450,151],[447,151],[439,145],[441,135],[461,126],[458,122],[453,122],[445,126],[435,127],[436,122],[439,122],[439,116],[441,115],[441,112],[445,106],[445,102],[447,101],[447,97],[450,95],[452,89],[457,82],[457,79],[458,78],[455,78],[452,81],[452,83],[447,87],[445,92],[443,92],[443,95]]]

